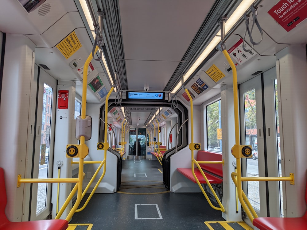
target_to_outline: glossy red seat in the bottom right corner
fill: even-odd
[[[307,184],[305,201],[307,204]],[[307,211],[302,217],[259,217],[253,220],[253,224],[260,230],[303,230],[307,229]]]

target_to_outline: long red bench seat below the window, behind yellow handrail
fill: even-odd
[[[221,153],[213,153],[208,151],[198,151],[197,161],[222,161],[223,157]],[[205,170],[208,181],[212,184],[221,184],[223,182],[223,164],[199,164],[200,167]],[[191,168],[177,168],[177,171],[183,174],[186,178],[196,183],[196,179],[192,174]],[[194,169],[195,175],[201,184],[206,184],[206,180],[199,171],[198,168]]]

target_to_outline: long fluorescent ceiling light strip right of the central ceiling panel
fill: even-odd
[[[231,14],[229,19],[225,22],[225,34],[237,23],[237,21],[242,17],[242,15],[249,9],[254,0],[243,0],[240,5],[235,9],[235,11]],[[221,31],[219,31],[216,36],[211,40],[202,54],[197,58],[197,60],[193,63],[188,72],[183,76],[183,82],[185,82],[192,73],[196,70],[196,68],[202,63],[202,61],[208,56],[208,54],[219,44],[221,41],[220,37]],[[181,81],[178,82],[177,86],[172,90],[172,94],[175,94],[177,90],[181,87]]]

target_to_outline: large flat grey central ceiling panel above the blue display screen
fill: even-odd
[[[119,0],[129,90],[165,88],[213,2]]]

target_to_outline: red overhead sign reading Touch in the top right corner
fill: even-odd
[[[268,11],[287,32],[307,17],[307,0],[281,0]]]

